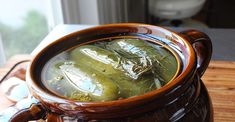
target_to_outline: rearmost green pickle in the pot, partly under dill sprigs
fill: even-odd
[[[177,61],[172,54],[161,47],[139,39],[116,39],[106,45],[107,49],[123,55],[139,57],[142,65],[150,65],[153,74],[166,84],[175,75]]]

